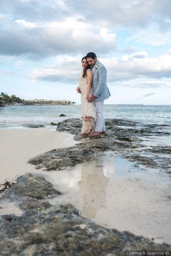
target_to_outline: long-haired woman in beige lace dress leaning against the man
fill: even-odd
[[[81,60],[83,71],[78,77],[80,92],[81,92],[81,108],[82,108],[82,118],[83,126],[81,128],[80,135],[86,135],[94,131],[94,119],[96,117],[96,109],[94,102],[91,102],[90,96],[92,94],[91,82],[92,82],[92,72],[90,65],[83,57]]]

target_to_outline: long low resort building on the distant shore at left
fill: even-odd
[[[28,99],[24,100],[26,105],[70,105],[71,101],[66,101],[65,99],[61,101],[47,100],[47,99]]]

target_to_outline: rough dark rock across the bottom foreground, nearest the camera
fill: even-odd
[[[41,202],[26,195],[24,186],[21,189],[22,183],[30,184],[31,191],[36,191],[39,184],[40,191],[52,191],[52,196],[58,194],[50,182],[31,174],[19,177],[18,182],[8,188],[0,202],[14,201],[23,214],[1,216],[1,255],[122,256],[125,250],[171,250],[165,243],[155,244],[128,231],[96,225],[81,217],[72,204],[52,206],[47,199]]]

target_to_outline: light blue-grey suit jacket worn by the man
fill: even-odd
[[[93,73],[93,79],[91,83],[92,93],[95,96],[95,101],[103,101],[104,99],[109,98],[110,91],[107,87],[107,70],[100,61],[96,63],[99,65],[98,68],[95,68]],[[95,66],[96,66],[95,65]]]

